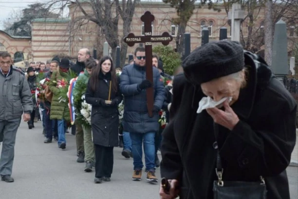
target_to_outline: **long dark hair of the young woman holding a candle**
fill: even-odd
[[[117,76],[116,76],[116,71],[115,68],[113,66],[113,61],[112,58],[110,56],[104,56],[99,60],[99,63],[97,64],[97,66],[95,68],[92,69],[92,73],[91,73],[91,77],[90,77],[90,85],[91,85],[91,90],[93,92],[95,92],[97,90],[97,86],[99,84],[99,73],[101,71],[101,64],[103,62],[105,62],[106,60],[110,60],[111,61],[111,81],[112,81],[112,91],[114,91],[115,93],[117,92],[118,89],[118,81],[117,81]]]

